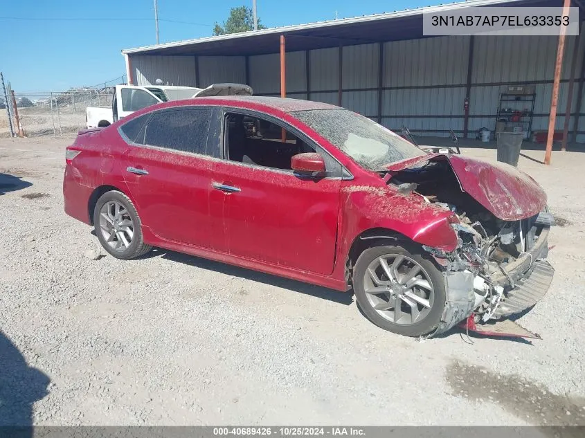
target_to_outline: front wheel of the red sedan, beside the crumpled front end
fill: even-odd
[[[388,277],[380,259],[386,262],[394,280]],[[397,271],[393,270],[395,263]],[[354,266],[353,284],[359,308],[382,329],[404,336],[424,336],[440,323],[446,301],[444,277],[431,257],[414,244],[364,250]],[[415,285],[407,289],[409,284]],[[399,301],[395,301],[397,297]],[[397,302],[396,313],[393,306]]]

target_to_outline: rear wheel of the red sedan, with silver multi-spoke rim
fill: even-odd
[[[98,199],[93,210],[93,226],[100,244],[117,259],[134,259],[152,249],[143,241],[142,223],[134,204],[117,190],[106,192]]]

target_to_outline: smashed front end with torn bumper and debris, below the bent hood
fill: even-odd
[[[479,222],[454,224],[459,245],[453,253],[426,248],[445,266],[447,302],[434,334],[473,315],[476,324],[522,313],[550,288],[555,269],[546,261],[550,212],[505,222],[489,234]]]

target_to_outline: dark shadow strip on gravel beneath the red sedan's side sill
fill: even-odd
[[[332,289],[327,289],[325,287],[314,286],[313,284],[298,282],[296,280],[289,280],[283,277],[277,277],[276,275],[265,274],[258,271],[252,271],[251,269],[240,268],[230,264],[202,259],[201,257],[195,257],[183,253],[175,253],[174,251],[169,251],[162,248],[154,248],[154,250],[150,251],[150,253],[140,258],[150,257],[162,257],[163,259],[172,260],[172,262],[188,264],[189,266],[197,266],[197,268],[207,269],[208,271],[233,275],[235,277],[245,278],[246,280],[252,280],[254,282],[271,284],[272,286],[282,287],[283,289],[289,289],[290,291],[306,293],[307,295],[312,295],[316,298],[322,298],[323,300],[339,302],[339,304],[345,304],[346,306],[352,304],[352,293],[338,292]]]

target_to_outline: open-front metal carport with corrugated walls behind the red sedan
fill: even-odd
[[[242,82],[257,95],[281,95],[286,89],[288,97],[339,104],[390,129],[406,125],[420,135],[445,136],[453,129],[468,137],[481,127],[493,130],[499,94],[507,86],[528,84],[536,90],[534,130],[548,131],[559,37],[422,35],[423,13],[470,6],[563,2],[471,0],[157,44],[123,55],[132,84]],[[570,128],[573,141],[585,142],[585,41],[567,37],[565,46],[568,55],[557,80],[559,108],[567,110],[556,114],[552,131]],[[286,48],[286,64],[280,48]]]

